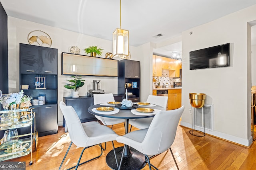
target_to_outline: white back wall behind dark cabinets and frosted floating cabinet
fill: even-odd
[[[62,52],[70,53],[69,48],[76,45],[80,48],[80,54],[86,55],[84,53],[84,48],[92,45],[98,45],[104,49],[102,56],[105,57],[106,52],[112,52],[112,41],[91,37],[88,35],[79,34],[72,31],[67,31],[64,29],[59,29],[56,27],[50,27],[47,25],[42,25],[30,21],[20,20],[17,18],[8,17],[8,76],[9,76],[9,92],[19,91],[19,43],[28,43],[28,34],[34,30],[42,30],[52,38],[51,48],[58,49],[58,103],[62,101],[63,97],[71,96],[71,90],[64,88],[66,84],[66,79],[70,79],[70,76],[61,75],[61,62],[60,55]],[[110,33],[112,34],[112,33]],[[144,54],[140,50],[140,47],[129,47],[131,53],[131,60],[141,61],[144,58]],[[140,51],[138,53],[138,51]],[[151,53],[152,54],[152,53]],[[118,59],[118,58],[114,58]],[[151,57],[152,61],[152,57]],[[152,64],[152,63],[151,63]],[[143,64],[141,63],[143,68]],[[141,75],[143,77],[143,72]],[[101,80],[102,89],[106,93],[117,94],[118,92],[118,78],[117,77],[100,77],[100,76],[84,76],[85,85],[81,87],[78,91],[80,96],[86,96],[88,92],[88,85],[92,80]],[[145,84],[145,83],[144,83]],[[142,97],[144,98],[144,97]],[[62,125],[62,112],[58,107],[58,125]]]

